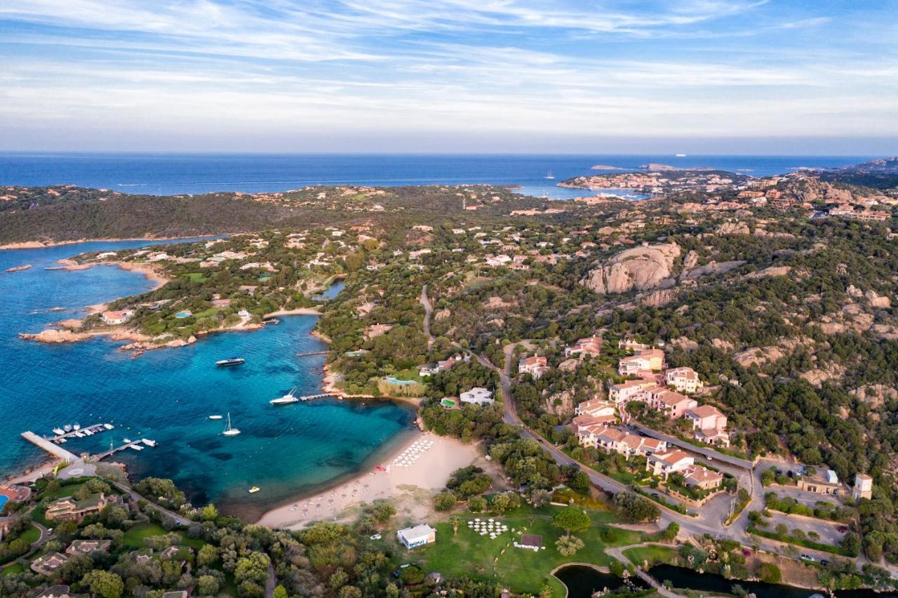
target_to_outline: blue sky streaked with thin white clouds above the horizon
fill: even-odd
[[[898,153],[898,0],[0,0],[0,151]]]

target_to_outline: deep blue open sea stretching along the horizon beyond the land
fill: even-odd
[[[210,191],[284,191],[307,185],[520,185],[537,197],[573,198],[582,189],[555,183],[595,164],[638,169],[662,163],[769,176],[801,167],[835,167],[881,156],[534,155],[534,154],[0,154],[0,185],[71,183],[124,193],[177,195]],[[554,179],[546,179],[551,173]]]

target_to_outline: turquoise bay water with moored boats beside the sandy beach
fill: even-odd
[[[91,339],[47,345],[18,339],[50,322],[79,317],[84,305],[150,288],[141,275],[119,268],[45,270],[83,251],[136,247],[147,242],[92,242],[41,250],[0,251],[0,471],[15,472],[45,460],[20,437],[25,430],[50,435],[53,427],[111,423],[112,432],[72,439],[66,449],[100,452],[151,438],[140,453],[119,453],[137,478],[175,479],[195,504],[215,501],[247,520],[298,494],[311,493],[370,467],[401,442],[414,414],[386,401],[314,400],[272,407],[269,400],[296,387],[319,391],[324,356],[296,357],[326,346],[309,335],[313,316],[288,316],[277,326],[207,335],[189,347],[147,351],[132,359],[121,343]],[[63,307],[65,311],[49,312]],[[216,367],[242,356],[244,365]],[[242,434],[225,437],[231,413]],[[250,495],[251,486],[261,491]]]

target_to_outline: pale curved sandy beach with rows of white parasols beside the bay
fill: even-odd
[[[408,467],[393,464],[397,456],[414,453],[418,458]],[[313,497],[279,506],[264,514],[259,523],[297,529],[313,521],[342,521],[355,517],[362,503],[379,498],[399,503],[400,514],[423,516],[431,510],[431,495],[445,487],[453,470],[475,460],[481,466],[487,464],[473,444],[431,433],[416,434],[383,460],[383,470],[362,473]]]

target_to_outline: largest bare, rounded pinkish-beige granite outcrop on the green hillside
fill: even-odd
[[[679,257],[676,243],[634,247],[591,270],[580,284],[603,295],[668,288],[674,286],[674,260]]]

